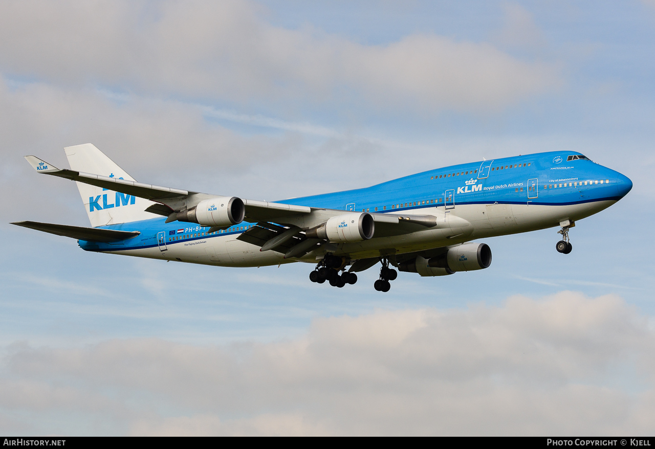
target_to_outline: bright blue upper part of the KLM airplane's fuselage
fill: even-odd
[[[464,215],[474,216],[476,207],[507,204],[515,205],[516,210],[525,206],[544,206],[546,208],[534,207],[525,210],[540,210],[540,217],[552,215],[550,221],[546,218],[540,218],[540,221],[527,220],[525,223],[530,223],[529,225],[502,230],[491,226],[489,232],[478,234],[491,236],[557,225],[559,222],[556,220],[559,215],[550,211],[564,206],[580,206],[580,213],[576,219],[584,218],[620,200],[631,187],[632,183],[626,176],[595,164],[579,153],[552,152],[460,164],[424,171],[364,189],[291,198],[279,203],[343,211],[393,212],[408,215],[430,213],[430,210],[441,209],[458,216],[462,216],[460,211]],[[603,206],[597,209],[582,206],[589,203]],[[548,210],[548,213],[544,213],[544,210]],[[567,213],[575,215],[575,210],[575,207],[569,207],[567,211],[571,212]],[[167,248],[175,245],[188,246],[193,242],[206,242],[212,238],[234,239],[254,225],[244,222],[226,230],[207,234],[208,227],[179,221],[166,224],[165,220],[161,217],[122,225],[103,226],[117,230],[138,230],[141,234],[136,238],[117,243],[79,241],[79,244],[88,251],[129,254],[130,251],[160,247],[162,236]],[[474,233],[473,236],[476,234]],[[134,255],[141,255],[138,254],[139,252],[136,251]],[[161,258],[166,259],[166,257]],[[203,262],[199,261],[199,263]],[[257,265],[256,262],[252,264]]]

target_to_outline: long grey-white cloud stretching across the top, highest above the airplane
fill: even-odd
[[[0,67],[165,96],[490,111],[561,84],[549,63],[431,34],[362,45],[261,20],[250,1],[5,2]],[[128,87],[129,86],[129,87]],[[305,105],[307,107],[307,105]]]

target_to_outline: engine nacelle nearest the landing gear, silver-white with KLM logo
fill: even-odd
[[[309,238],[320,238],[329,242],[362,242],[373,237],[375,221],[370,213],[352,212],[331,217],[315,228],[305,231]]]

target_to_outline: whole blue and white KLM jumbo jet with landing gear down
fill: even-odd
[[[626,196],[632,182],[572,151],[482,160],[365,187],[267,202],[138,183],[91,143],[65,147],[90,228],[20,221],[77,239],[84,251],[215,266],[315,264],[310,281],[344,287],[381,263],[375,290],[400,272],[449,276],[488,268],[473,240],[559,226],[569,254],[577,221]],[[394,267],[394,268],[392,268]],[[396,268],[398,270],[396,270]]]

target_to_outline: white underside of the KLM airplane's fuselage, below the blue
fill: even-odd
[[[388,211],[396,215],[436,215],[440,220],[434,228],[422,228],[409,234],[373,237],[357,243],[335,243],[329,252],[348,255],[350,259],[365,259],[391,254],[410,253],[469,242],[474,239],[518,234],[559,226],[565,220],[576,221],[589,217],[609,206],[615,200],[603,200],[565,206],[527,204],[468,204],[452,209],[424,207],[407,211]],[[451,219],[453,217],[453,219]],[[462,220],[457,220],[458,217]],[[468,222],[468,224],[466,223]],[[216,266],[269,266],[290,262],[315,263],[327,249],[317,249],[301,259],[284,259],[276,251],[259,251],[259,247],[236,240],[237,235],[207,236],[190,242],[166,242],[165,247],[103,251],[149,259],[177,260]]]

